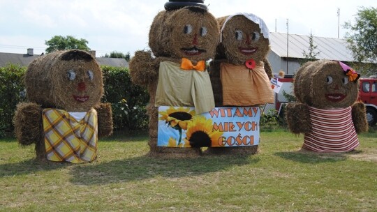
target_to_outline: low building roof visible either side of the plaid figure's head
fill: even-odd
[[[9,63],[18,64],[20,66],[29,66],[31,61],[37,59],[41,55],[33,54],[33,50],[28,50],[28,54],[15,54],[0,52],[0,67],[7,66]],[[126,67],[128,62],[123,58],[96,57],[100,66]]]

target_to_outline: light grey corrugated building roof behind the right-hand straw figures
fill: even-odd
[[[280,57],[287,57],[287,34],[272,32],[270,37],[272,52]],[[309,36],[289,34],[288,58],[304,59],[304,51],[309,54]],[[316,59],[330,59],[337,61],[355,61],[353,54],[348,50],[348,43],[340,38],[323,38],[313,36],[314,52],[319,52]]]

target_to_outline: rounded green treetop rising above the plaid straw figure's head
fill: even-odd
[[[85,50],[89,51],[88,41],[85,39],[76,39],[73,36],[54,36],[50,40],[45,40],[47,45],[46,52],[51,53],[57,50]]]

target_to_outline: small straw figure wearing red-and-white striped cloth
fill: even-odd
[[[355,102],[359,74],[339,61],[304,63],[295,75],[297,103],[286,107],[288,128],[304,133],[302,149],[346,152],[359,145],[357,133],[366,132],[365,106]]]

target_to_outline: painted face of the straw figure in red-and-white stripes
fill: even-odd
[[[348,107],[357,99],[357,81],[350,81],[337,62],[326,63],[312,80],[314,107]]]

